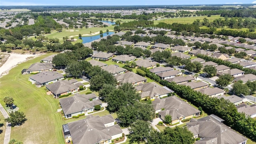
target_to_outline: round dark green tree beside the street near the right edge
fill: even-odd
[[[249,87],[246,84],[243,84],[242,80],[239,80],[232,85],[232,91],[237,96],[240,96],[241,94],[248,95],[250,93]]]

